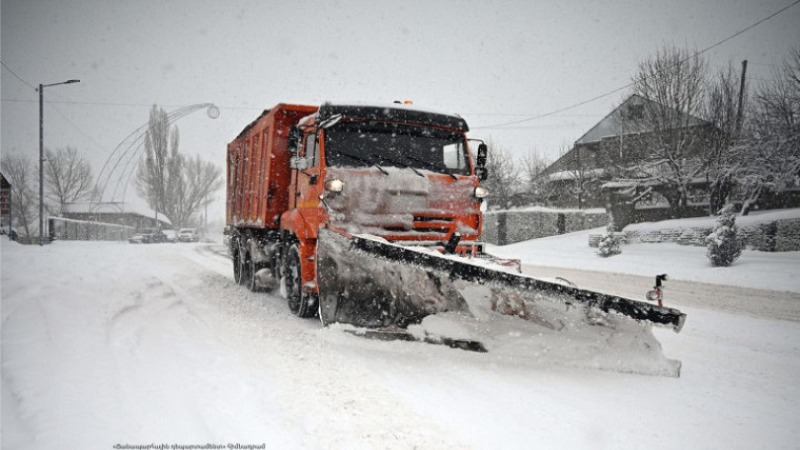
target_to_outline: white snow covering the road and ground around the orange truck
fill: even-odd
[[[752,291],[729,313],[717,291],[690,285],[692,301],[672,305],[688,314],[684,330],[654,330],[683,363],[670,378],[514,348],[535,337],[511,317],[485,354],[321,329],[277,296],[236,286],[219,246],[3,240],[2,447],[797,448],[800,253],[745,252],[718,273],[702,249],[639,244],[602,259],[586,242],[495,250],[640,271],[635,292],[662,272],[792,292]]]

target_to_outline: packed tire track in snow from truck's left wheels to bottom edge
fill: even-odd
[[[202,252],[202,251],[201,251]],[[209,268],[220,255],[195,252],[188,259]],[[227,260],[230,271],[230,261]],[[214,270],[216,272],[216,270]],[[199,274],[199,283],[181,286],[190,309],[199,304],[214,334],[235,352],[251,372],[267,376],[280,386],[283,407],[292,411],[293,426],[306,437],[305,444],[321,448],[469,448],[447,436],[438,426],[408,407],[374,374],[351,367],[352,360],[321,338],[315,319],[302,320],[288,311],[286,301],[252,293],[235,285],[231,276]],[[182,284],[171,278],[172,285]]]

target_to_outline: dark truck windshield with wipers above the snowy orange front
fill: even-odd
[[[339,123],[325,130],[329,166],[394,166],[469,175],[464,136],[387,123]]]

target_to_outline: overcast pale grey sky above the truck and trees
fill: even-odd
[[[792,3],[2,0],[0,145],[38,158],[32,86],[78,78],[45,89],[45,146],[78,148],[96,174],[154,103],[215,103],[218,119],[176,124],[182,151],[220,166],[261,110],[327,100],[413,100],[461,114],[471,137],[515,155],[555,158],[625,93],[497,125],[621,88],[660,46],[701,50]],[[705,54],[715,69],[747,59],[757,83],[793,45],[800,5]]]

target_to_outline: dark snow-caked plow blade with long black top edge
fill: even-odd
[[[318,239],[320,314],[324,323],[357,327],[406,327],[442,312],[468,311],[452,284],[461,279],[529,292],[539,299],[582,305],[588,311],[620,314],[679,332],[686,315],[599,292],[565,286],[487,267],[481,260],[412,249],[386,241],[320,230]],[[400,264],[398,264],[400,263]]]

